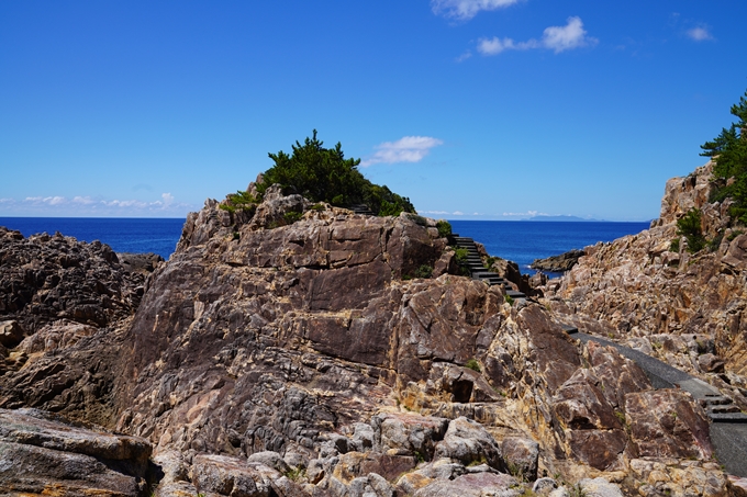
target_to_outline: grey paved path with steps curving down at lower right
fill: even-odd
[[[704,381],[643,352],[602,337],[579,332],[571,326],[562,326],[562,328],[584,343],[593,340],[614,347],[622,355],[635,361],[644,370],[655,388],[682,388],[690,392],[695,400],[705,407],[711,419],[711,442],[718,462],[728,473],[747,477],[747,415],[738,411],[731,398],[723,396]]]

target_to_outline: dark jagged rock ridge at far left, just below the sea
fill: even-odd
[[[0,227],[0,321],[3,329],[18,330],[3,331],[0,342],[15,347],[19,338],[57,319],[103,327],[127,317],[143,281],[125,271],[107,245],[59,234],[24,238]]]

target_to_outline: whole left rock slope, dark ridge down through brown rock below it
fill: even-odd
[[[134,314],[147,273],[130,266],[137,264],[121,264],[96,241],[24,238],[0,227],[0,407],[111,425],[118,330]]]

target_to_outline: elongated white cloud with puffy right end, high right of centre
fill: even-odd
[[[587,36],[581,18],[568,18],[565,26],[549,26],[543,32],[540,39],[531,38],[526,42],[515,42],[512,38],[480,38],[477,50],[482,55],[498,55],[505,50],[528,50],[532,48],[547,48],[556,54],[560,52],[595,45],[599,41]]]

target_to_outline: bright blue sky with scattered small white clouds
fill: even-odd
[[[312,129],[422,214],[657,217],[747,2],[0,2],[0,216],[181,217]]]

